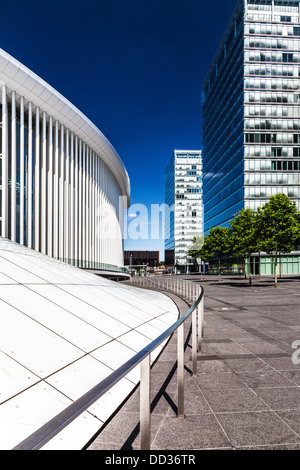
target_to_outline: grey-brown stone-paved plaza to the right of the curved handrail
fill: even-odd
[[[190,325],[185,329],[185,418],[176,416],[174,335],[151,374],[151,449],[299,450],[300,278],[286,276],[277,289],[271,277],[254,277],[251,287],[238,277],[204,276],[201,283],[205,322],[197,377]],[[176,301],[187,310],[185,301]],[[88,447],[137,449],[139,389]]]

